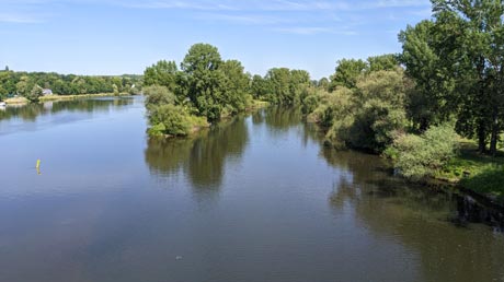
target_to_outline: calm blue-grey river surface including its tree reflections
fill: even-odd
[[[497,227],[295,110],[145,131],[141,98],[0,109],[0,281],[504,281]]]

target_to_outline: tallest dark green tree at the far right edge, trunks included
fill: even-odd
[[[458,128],[476,134],[479,150],[496,153],[503,122],[504,4],[496,0],[433,0],[439,36],[449,44],[436,46],[444,66],[458,82],[461,110]],[[446,46],[454,46],[448,51]],[[453,67],[455,66],[455,67]]]

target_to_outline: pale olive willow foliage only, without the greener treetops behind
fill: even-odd
[[[397,67],[363,73],[354,89],[340,86],[332,93],[307,96],[303,110],[310,111],[308,120],[329,128],[327,139],[333,145],[381,152],[405,129],[406,87],[403,71]]]

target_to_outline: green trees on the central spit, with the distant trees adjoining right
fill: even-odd
[[[187,136],[194,128],[252,106],[253,99],[297,105],[310,86],[307,71],[272,69],[263,78],[244,72],[238,60],[224,60],[208,44],[193,45],[180,69],[161,60],[144,73],[150,134]],[[151,86],[151,87],[149,87]],[[161,93],[161,94],[160,94]]]

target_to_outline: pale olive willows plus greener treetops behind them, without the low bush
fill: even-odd
[[[410,83],[393,56],[341,60],[329,85],[311,91],[302,110],[332,144],[381,152],[404,131]]]

